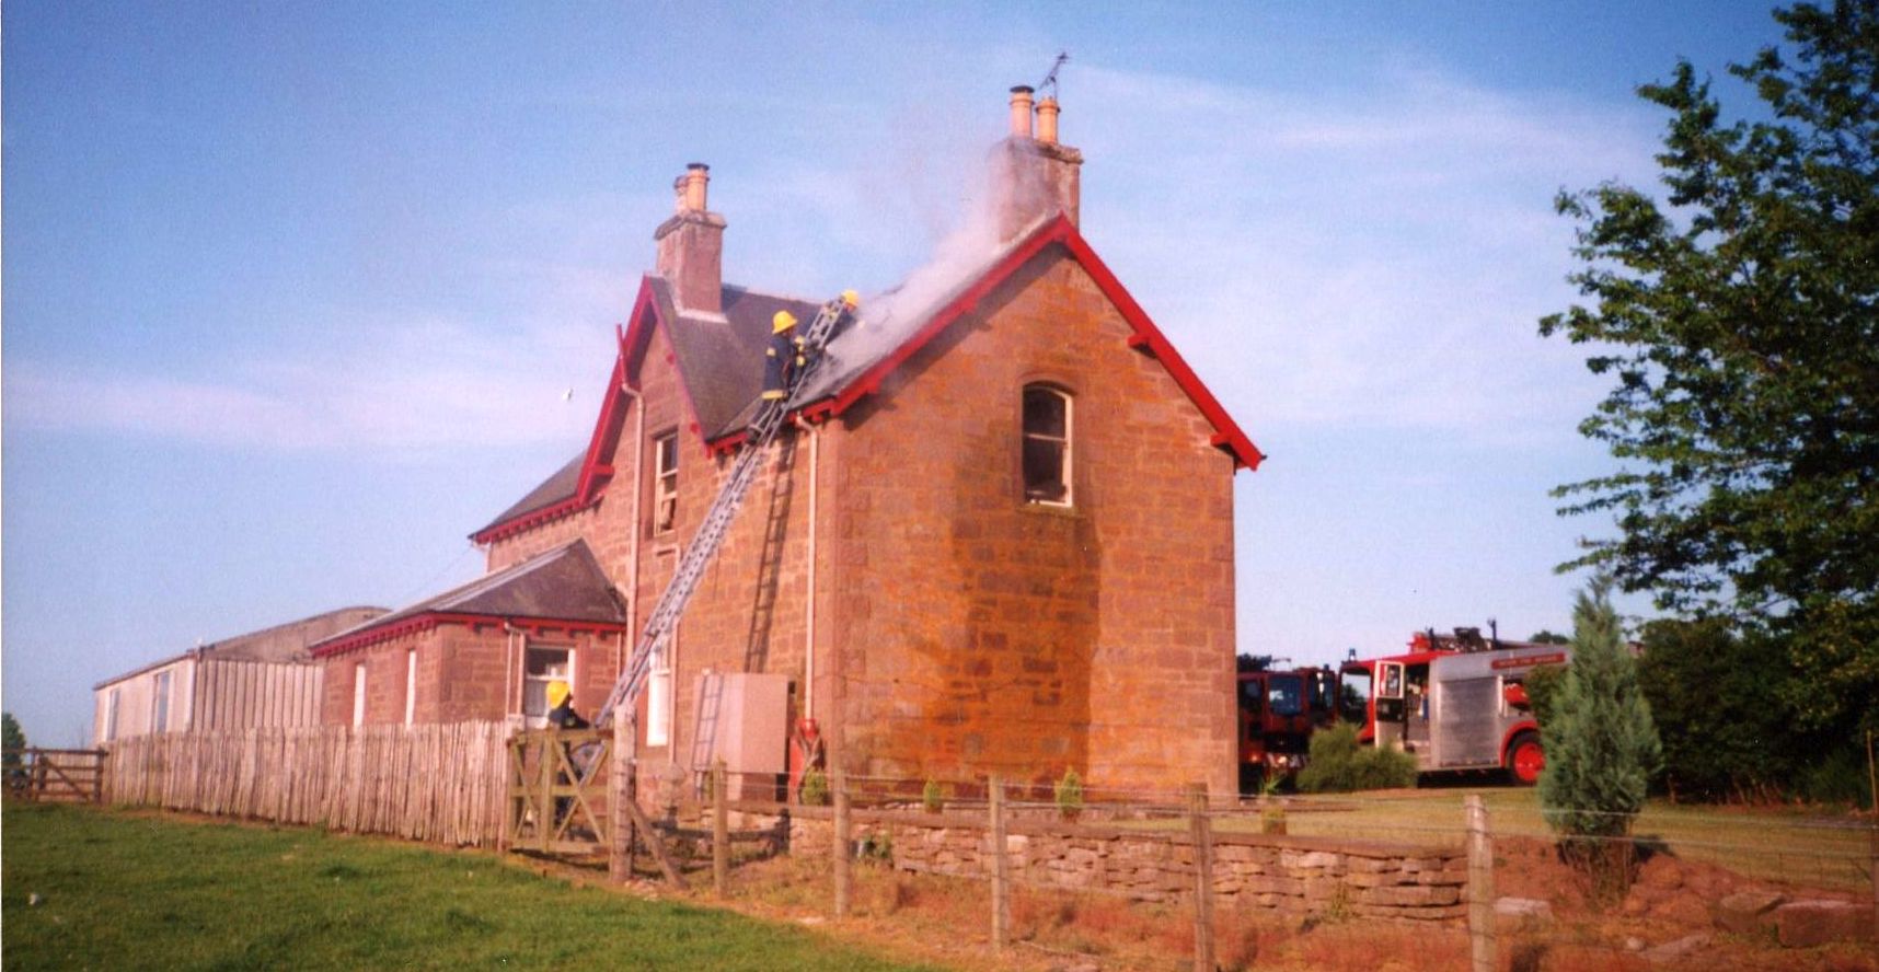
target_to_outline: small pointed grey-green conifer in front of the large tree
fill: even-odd
[[[1573,607],[1573,664],[1548,718],[1541,812],[1560,833],[1560,850],[1592,874],[1595,897],[1622,897],[1631,822],[1644,808],[1661,748],[1603,581]]]

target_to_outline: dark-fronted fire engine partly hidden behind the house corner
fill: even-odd
[[[1338,675],[1330,667],[1240,671],[1240,793],[1304,767],[1312,729],[1338,718]]]

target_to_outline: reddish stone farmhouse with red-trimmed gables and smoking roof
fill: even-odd
[[[1235,773],[1233,476],[1261,453],[1079,229],[1082,154],[1013,88],[966,261],[868,295],[637,705],[643,773],[1167,790]],[[472,534],[487,575],[342,632],[327,722],[592,714],[755,414],[772,316],[675,184],[592,438]],[[831,297],[831,295],[823,295]],[[823,748],[827,746],[827,748]]]

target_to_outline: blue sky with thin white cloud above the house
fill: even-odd
[[[1768,8],[1212,8],[6,4],[6,709],[79,743],[100,679],[474,575],[584,442],[684,164],[729,280],[877,291],[1060,49],[1084,235],[1272,457],[1242,651],[1563,628],[1607,525],[1546,491],[1607,459],[1535,337],[1552,196],[1650,184],[1633,88],[1738,96]]]

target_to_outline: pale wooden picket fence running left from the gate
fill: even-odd
[[[103,795],[126,807],[498,846],[504,722],[256,728],[118,739]]]

